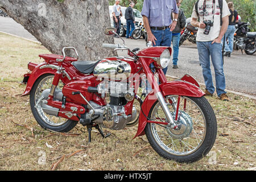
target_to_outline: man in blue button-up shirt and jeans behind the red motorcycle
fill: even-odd
[[[153,46],[171,46],[172,31],[177,24],[178,13],[175,0],[144,0],[141,14],[147,31],[147,40],[151,41]],[[163,69],[164,74],[167,68]]]

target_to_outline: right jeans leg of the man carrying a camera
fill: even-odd
[[[222,60],[222,44],[210,44],[210,57],[212,59],[212,64],[215,72],[216,92],[218,97],[220,97],[221,94],[226,93],[225,75],[223,71]]]

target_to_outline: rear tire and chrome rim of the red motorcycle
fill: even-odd
[[[42,112],[42,109],[36,109],[35,105],[36,105],[36,101],[38,100],[38,96],[40,96],[40,89],[43,89],[43,86],[45,85],[46,88],[48,88],[48,86],[51,85],[47,85],[46,82],[50,82],[50,79],[52,79],[54,77],[54,75],[52,74],[45,74],[42,75],[38,78],[38,80],[35,81],[31,92],[30,92],[30,107],[31,107],[31,111],[32,114],[34,115],[36,121],[39,123],[40,126],[42,126],[44,129],[49,129],[52,131],[56,131],[56,132],[68,132],[70,130],[73,129],[73,127],[75,127],[77,125],[77,121],[72,121],[70,119],[65,119],[65,118],[60,118],[60,117],[55,117],[55,116],[51,116],[51,115],[47,115],[46,113]],[[43,86],[42,86],[42,85]],[[49,87],[51,88],[51,87]],[[54,125],[54,122],[51,119],[62,119],[63,123],[60,123],[60,125]],[[53,122],[52,124],[46,122],[46,121],[50,121]],[[59,120],[60,121],[60,120]]]

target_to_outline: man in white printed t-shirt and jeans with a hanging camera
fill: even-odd
[[[229,100],[225,92],[221,44],[221,39],[228,28],[229,15],[230,12],[225,0],[199,0],[193,8],[191,17],[192,26],[199,27],[196,40],[199,61],[203,68],[205,94],[212,96],[215,90],[210,72],[211,57],[215,72],[216,92],[222,101]],[[197,21],[198,18],[199,22]]]

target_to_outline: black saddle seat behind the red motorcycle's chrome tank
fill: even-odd
[[[98,61],[74,61],[72,62],[73,66],[81,73],[90,74],[93,72],[94,68],[100,62]]]

